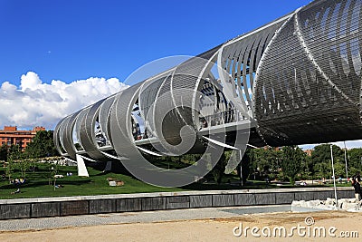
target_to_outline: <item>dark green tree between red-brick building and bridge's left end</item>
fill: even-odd
[[[26,158],[44,158],[49,156],[58,156],[53,143],[52,131],[37,131],[33,140],[26,146]]]

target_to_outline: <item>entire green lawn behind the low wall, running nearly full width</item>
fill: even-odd
[[[217,185],[212,178],[208,178],[205,183],[193,183],[183,188],[160,188],[149,185],[138,179],[134,179],[128,175],[119,173],[103,173],[100,170],[88,168],[89,178],[77,176],[77,167],[58,167],[58,174],[62,174],[64,178],[56,179],[57,185],[62,188],[54,189],[50,164],[39,164],[38,169],[26,172],[26,181],[20,186],[9,184],[8,179],[0,179],[0,199],[5,198],[41,198],[41,197],[63,197],[63,196],[86,196],[86,195],[104,195],[104,194],[127,194],[142,192],[166,192],[166,191],[183,191],[183,190],[221,190],[221,189],[283,189],[283,188],[300,188],[291,185],[277,186],[276,184],[266,184],[265,181],[250,180],[240,187],[240,180],[236,175],[225,175],[222,184]],[[5,169],[0,168],[0,174]],[[73,175],[66,176],[67,172]],[[20,170],[14,170],[12,179],[20,179]],[[119,179],[124,181],[124,185],[120,187],[110,187],[107,178]],[[51,183],[51,184],[50,184]],[[329,187],[333,184],[317,185],[313,187]],[[338,186],[350,186],[350,184],[338,184]],[[311,186],[308,186],[311,187]],[[12,194],[16,189],[21,192]],[[304,187],[301,187],[304,188]]]

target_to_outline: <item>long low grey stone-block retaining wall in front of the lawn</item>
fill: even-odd
[[[351,188],[338,188],[338,198],[354,198]],[[333,188],[249,189],[138,193],[59,198],[0,199],[0,219],[40,218],[178,208],[291,204],[293,200],[334,198]]]

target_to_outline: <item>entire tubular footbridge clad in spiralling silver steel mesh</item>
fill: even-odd
[[[62,119],[55,146],[71,159],[120,160],[149,183],[179,186],[190,182],[185,174],[207,170],[182,175],[144,158],[208,153],[216,162],[214,150],[229,149],[240,160],[249,134],[256,146],[362,139],[361,7],[317,0],[138,80]],[[162,174],[175,180],[150,177]]]

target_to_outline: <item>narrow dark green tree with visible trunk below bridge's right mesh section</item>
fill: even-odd
[[[282,148],[281,169],[287,176],[291,185],[294,185],[295,178],[300,172],[305,153],[297,146],[285,146]]]

